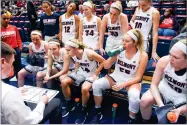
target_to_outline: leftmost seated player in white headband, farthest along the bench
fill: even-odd
[[[32,42],[29,44],[29,56],[41,56],[44,57],[47,55],[48,43],[42,40],[42,34],[38,30],[33,30],[31,32]],[[18,72],[18,87],[22,87],[25,82],[25,77],[29,74],[36,75],[40,70],[43,70],[44,67],[33,66],[29,64],[25,68],[21,69]]]

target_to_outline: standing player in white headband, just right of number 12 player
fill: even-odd
[[[79,40],[93,50],[99,49],[99,32],[101,19],[92,14],[93,5],[90,2],[83,3],[84,17],[80,21]]]

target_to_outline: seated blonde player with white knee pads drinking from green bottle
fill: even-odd
[[[143,36],[138,29],[128,31],[123,36],[122,44],[125,50],[110,57],[104,64],[104,68],[108,69],[116,62],[114,72],[92,84],[95,113],[91,124],[97,124],[102,119],[102,91],[110,88],[115,91],[127,90],[129,98],[128,122],[136,122],[136,114],[139,111],[141,79],[148,62],[148,55],[143,51]]]

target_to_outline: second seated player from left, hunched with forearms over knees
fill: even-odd
[[[36,75],[36,83],[38,87],[43,87],[43,83],[47,83],[49,88],[54,87],[51,80],[59,78],[60,81],[67,75],[69,70],[74,68],[71,57],[67,54],[65,48],[61,48],[61,42],[57,39],[49,40],[47,69],[39,71]]]

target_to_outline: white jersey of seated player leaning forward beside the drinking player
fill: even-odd
[[[90,51],[89,49],[84,49],[82,59],[78,59],[75,57],[75,62],[78,62],[80,64],[81,68],[79,71],[80,74],[84,75],[85,77],[91,76],[93,73],[95,73],[95,70],[97,69],[97,62],[95,60],[91,61],[88,59],[87,51]]]

